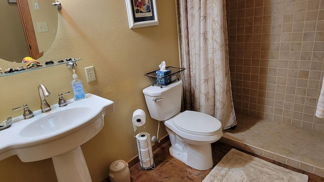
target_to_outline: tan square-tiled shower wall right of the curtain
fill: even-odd
[[[237,113],[324,132],[324,0],[226,0]]]

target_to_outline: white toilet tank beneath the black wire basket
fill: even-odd
[[[181,110],[182,81],[164,87],[149,86],[143,89],[146,105],[151,118],[165,121]]]

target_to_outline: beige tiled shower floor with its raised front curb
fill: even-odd
[[[324,177],[324,133],[237,115],[220,140],[245,151]]]

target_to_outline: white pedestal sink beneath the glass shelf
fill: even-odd
[[[114,103],[93,94],[87,99],[67,101],[65,107],[52,105],[52,111],[34,112],[24,120],[0,132],[0,160],[17,155],[22,162],[52,158],[56,176],[62,181],[89,182],[91,176],[80,145],[92,139],[104,125],[104,115],[113,111]]]

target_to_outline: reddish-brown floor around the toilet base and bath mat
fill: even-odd
[[[171,147],[170,141],[156,149],[154,153],[154,162],[155,162],[155,169],[150,171],[142,171],[139,169],[139,163],[134,165],[130,168],[131,171],[131,181],[132,182],[157,182],[157,181],[168,181],[168,182],[187,182],[187,181],[202,181],[207,174],[212,170],[206,170],[206,171],[199,171],[196,169],[193,169],[184,163],[178,161],[177,159],[173,158],[169,154],[169,148]],[[212,144],[212,150],[213,150],[213,160],[214,160],[214,166],[225,156],[225,154],[230,151],[230,149],[235,148],[237,150],[240,150],[242,152],[246,152],[244,150],[241,150],[239,148],[230,146],[228,144],[222,143],[222,142],[215,142]],[[250,155],[254,155],[256,157],[259,157],[263,160],[267,160],[269,162],[272,162],[274,164],[280,165],[282,167],[301,172],[304,174],[307,174],[309,176],[309,182],[319,182],[324,181],[323,177],[316,176],[314,174],[302,171],[300,169],[296,169],[293,167],[290,167],[285,164],[281,164],[279,162],[275,162],[273,160],[266,159],[262,156],[258,156],[249,152],[246,152]]]

